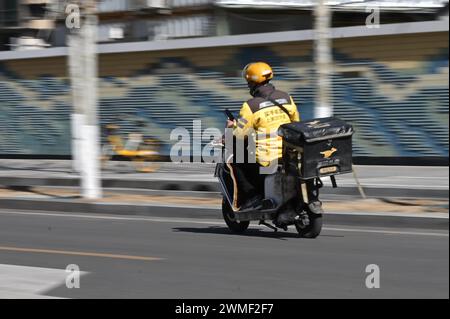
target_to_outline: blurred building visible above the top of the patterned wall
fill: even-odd
[[[2,49],[64,46],[69,0],[3,0]],[[99,42],[130,42],[313,28],[312,0],[99,0]],[[430,21],[445,0],[330,1],[333,26],[358,26],[378,6],[380,23]],[[448,7],[448,6],[447,6]]]

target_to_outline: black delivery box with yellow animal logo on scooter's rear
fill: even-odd
[[[352,172],[353,127],[335,117],[280,126],[285,147],[301,153],[303,179]]]

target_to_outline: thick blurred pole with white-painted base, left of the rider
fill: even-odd
[[[69,66],[72,79],[74,168],[81,175],[82,196],[102,196],[100,147],[97,120],[97,16],[95,0],[81,1],[84,20],[69,37]]]

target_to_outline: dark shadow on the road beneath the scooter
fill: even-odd
[[[285,232],[285,231],[271,231],[271,230],[260,230],[260,229],[247,229],[242,234],[235,234],[230,232],[230,230],[227,227],[220,227],[220,226],[210,226],[210,227],[174,227],[172,228],[174,231],[177,232],[186,232],[186,233],[197,233],[197,234],[219,234],[219,235],[229,235],[229,236],[244,236],[244,237],[265,237],[265,238],[274,238],[274,239],[280,239],[280,240],[287,240],[288,238],[295,238],[295,239],[305,239],[307,238],[300,238],[297,233],[294,232]],[[344,237],[344,236],[336,236],[336,235],[320,235],[319,237]]]

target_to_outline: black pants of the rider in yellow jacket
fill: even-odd
[[[258,163],[243,163],[232,164],[232,167],[238,184],[240,199],[247,200],[256,195],[264,196],[264,178],[259,174],[261,165]],[[242,201],[240,200],[240,202]]]

